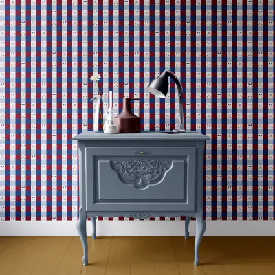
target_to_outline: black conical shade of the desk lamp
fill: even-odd
[[[164,71],[160,76],[151,81],[147,87],[147,91],[150,91],[151,94],[158,98],[165,98],[169,89],[168,77],[169,72]]]

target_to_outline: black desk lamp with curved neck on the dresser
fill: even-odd
[[[172,78],[177,85],[177,93],[179,95],[179,131],[173,131],[172,133],[185,133],[184,129],[184,113],[182,105],[182,86],[179,82],[179,78],[171,71],[164,71],[160,76],[151,81],[147,87],[147,91],[150,91],[151,94],[157,96],[158,98],[165,98],[168,93],[168,77]],[[164,132],[165,133],[165,132]],[[171,132],[166,132],[171,133]]]

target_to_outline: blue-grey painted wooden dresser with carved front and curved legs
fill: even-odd
[[[186,216],[197,221],[195,265],[206,222],[203,219],[203,149],[210,137],[142,132],[106,135],[86,131],[78,140],[80,209],[77,223],[88,264],[86,219],[91,217],[96,239],[96,216]],[[153,222],[153,221],[152,221]]]

